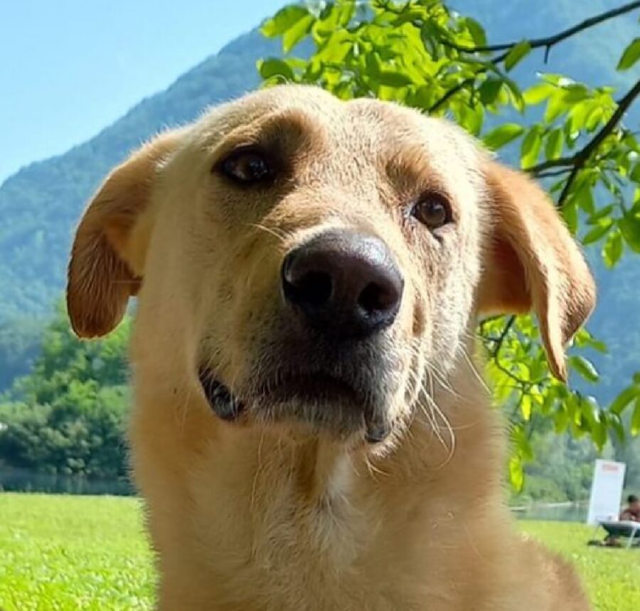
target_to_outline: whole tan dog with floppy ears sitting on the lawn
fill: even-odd
[[[543,192],[464,132],[282,86],[115,169],[68,309],[139,291],[130,437],[159,609],[584,611],[516,535],[479,312],[533,308],[556,376],[594,304]]]

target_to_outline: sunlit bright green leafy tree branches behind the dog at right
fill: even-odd
[[[284,53],[311,41],[309,58],[286,56],[259,64],[267,85],[314,83],[344,100],[375,96],[451,117],[486,147],[543,181],[568,227],[596,246],[604,265],[640,253],[640,152],[625,118],[640,80],[617,92],[558,74],[514,75],[530,53],[553,50],[587,28],[640,8],[640,2],[595,15],[543,38],[490,44],[478,21],[440,0],[341,0],[287,6],[262,27],[282,39]],[[633,72],[640,39],[629,41],[615,71]],[[525,83],[525,85],[523,85]],[[533,83],[533,84],[529,84]],[[494,317],[479,325],[496,400],[511,422],[511,482],[523,486],[523,463],[533,458],[540,423],[556,432],[607,440],[640,432],[640,375],[609,405],[599,405],[580,380],[565,386],[550,376],[529,316]],[[607,347],[582,330],[570,351],[573,379],[597,383],[589,351]],[[630,415],[627,415],[629,414]],[[625,427],[626,423],[626,427]]]

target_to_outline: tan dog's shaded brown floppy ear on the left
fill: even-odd
[[[148,208],[159,163],[180,132],[166,132],[117,166],[87,206],[75,233],[68,268],[67,309],[82,338],[103,336],[122,320],[137,294],[149,243]]]

